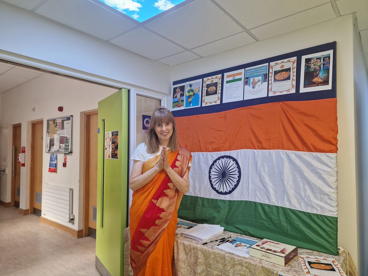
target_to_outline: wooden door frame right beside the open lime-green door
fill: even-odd
[[[87,163],[89,162],[88,151],[89,151],[89,143],[87,144],[87,117],[90,115],[98,114],[98,110],[93,110],[89,112],[84,113],[84,143],[83,143],[83,222],[82,222],[82,230],[83,230],[83,237],[88,236],[88,216],[89,216],[89,166],[87,166]],[[89,141],[89,140],[88,140]],[[88,183],[88,185],[87,185]]]

